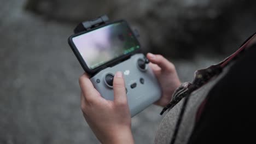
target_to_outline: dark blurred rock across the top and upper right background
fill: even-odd
[[[139,30],[146,51],[189,58],[195,52],[227,54],[256,31],[256,1],[236,0],[28,0],[27,10],[78,23],[108,14]]]

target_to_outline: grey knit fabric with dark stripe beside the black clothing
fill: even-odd
[[[213,77],[210,82],[206,83],[201,88],[190,94],[190,98],[184,111],[183,119],[181,121],[175,143],[181,144],[188,142],[195,125],[196,112],[199,109],[200,104],[206,98],[208,92],[210,92],[212,87],[216,85],[216,83],[220,79],[222,79],[223,76],[225,76],[229,68],[230,65],[228,67],[225,67],[221,74]],[[171,142],[183,103],[184,99],[179,101],[177,105],[175,105],[168,113],[166,113],[165,117],[162,119],[162,122],[158,127],[158,130],[156,131],[155,143],[159,144]]]

